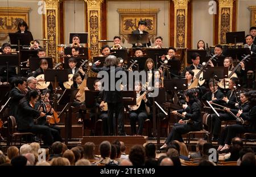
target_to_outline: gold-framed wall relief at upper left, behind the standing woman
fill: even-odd
[[[24,20],[29,26],[28,12],[26,7],[0,7],[0,33],[18,31],[18,23]]]

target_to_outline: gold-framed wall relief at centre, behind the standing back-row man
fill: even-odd
[[[118,9],[120,35],[130,34],[138,28],[139,20],[147,22],[146,31],[151,35],[157,34],[157,14],[159,9]]]

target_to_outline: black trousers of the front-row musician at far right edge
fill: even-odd
[[[219,145],[231,144],[232,138],[237,136],[237,133],[255,133],[251,127],[245,127],[240,124],[229,125],[221,132],[221,137],[218,140]]]

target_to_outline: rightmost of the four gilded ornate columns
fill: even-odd
[[[234,1],[218,0],[218,44],[226,44],[226,32],[232,32]]]

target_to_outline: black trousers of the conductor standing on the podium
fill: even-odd
[[[118,119],[118,134],[125,135],[125,125],[123,124],[123,102],[108,103],[109,135],[112,136],[115,134],[114,112],[115,119]]]

